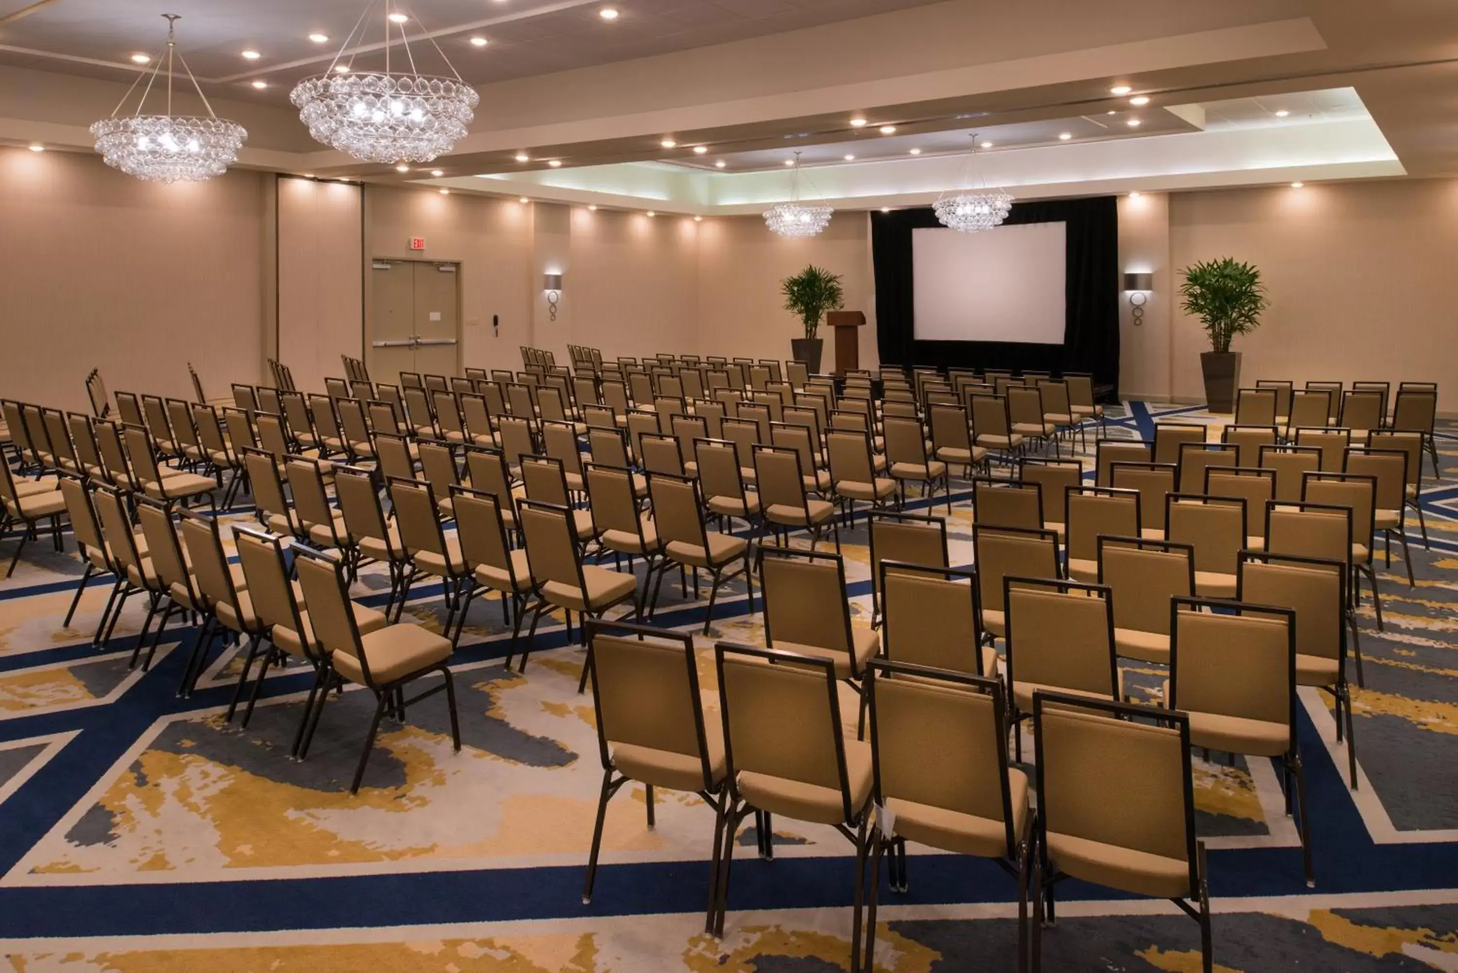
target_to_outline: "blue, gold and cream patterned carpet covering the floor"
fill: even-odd
[[[1110,436],[1147,438],[1162,417],[1222,422],[1145,403],[1111,413]],[[1458,471],[1458,429],[1445,426],[1441,451]],[[1417,586],[1394,551],[1378,575],[1385,632],[1363,604],[1356,792],[1341,776],[1331,713],[1302,694],[1314,890],[1271,766],[1196,754],[1216,969],[1458,970],[1455,502],[1458,481],[1424,477],[1432,550],[1411,525]],[[949,528],[952,563],[965,565],[965,495]],[[865,528],[841,537],[854,621],[869,624]],[[0,556],[13,543],[0,543]],[[172,651],[150,672],[128,671],[140,605],[98,652],[89,639],[109,584],[93,582],[71,627],[60,626],[79,575],[70,546],[55,554],[39,544],[0,584],[0,969],[847,967],[850,846],[819,826],[777,821],[774,862],[736,856],[726,934],[714,939],[701,931],[713,813],[698,798],[659,794],[649,830],[643,789],[630,786],[609,807],[593,902],[582,903],[601,764],[590,700],[576,694],[583,655],[560,620],[538,633],[521,675],[502,667],[509,629],[499,602],[474,605],[452,662],[462,751],[451,750],[443,697],[432,697],[408,724],[385,724],[350,796],[372,712],[364,694],[331,700],[309,759],[293,761],[305,671],[270,675],[241,731],[222,719],[239,664],[232,648],[179,700],[192,630],[169,630]],[[385,586],[366,570],[356,594],[381,604]],[[693,629],[703,610],[665,582],[658,623]],[[418,588],[407,610],[433,629],[443,614],[439,588]],[[717,691],[714,637],[761,640],[742,588],[714,616],[713,636],[695,636],[706,705]],[[1153,667],[1127,675],[1131,686],[1162,678]],[[749,830],[738,840],[755,846]],[[878,970],[1015,969],[1016,890],[1003,872],[913,846],[910,877],[907,893],[882,887]],[[1070,883],[1059,909],[1044,934],[1048,970],[1198,970],[1198,929],[1169,903]]]

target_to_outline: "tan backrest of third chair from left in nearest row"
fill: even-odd
[[[1016,858],[1002,684],[897,662],[868,668],[876,801],[1002,821],[1003,855]]]

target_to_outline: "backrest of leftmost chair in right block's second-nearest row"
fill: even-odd
[[[846,565],[838,554],[760,547],[760,582],[764,597],[764,639],[809,645],[850,658],[856,656],[850,635],[850,602],[846,600]]]

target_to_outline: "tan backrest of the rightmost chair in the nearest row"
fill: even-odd
[[[1185,894],[1198,897],[1190,718],[1038,691],[1032,726],[1038,840],[1047,846],[1051,833],[1187,862]]]

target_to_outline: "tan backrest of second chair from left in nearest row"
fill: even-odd
[[[838,821],[827,823],[854,824],[860,808],[850,801],[834,664],[729,642],[719,642],[714,656],[735,792],[765,778],[840,791]]]

